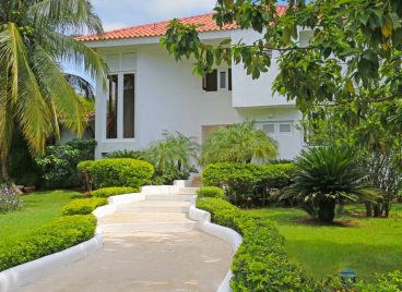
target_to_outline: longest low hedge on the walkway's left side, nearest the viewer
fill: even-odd
[[[0,245],[0,271],[47,256],[92,239],[94,216],[61,217],[19,240]]]

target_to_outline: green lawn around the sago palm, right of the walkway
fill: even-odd
[[[356,207],[362,210],[362,207]],[[376,272],[402,268],[402,206],[394,206],[389,219],[342,216],[351,226],[314,226],[298,209],[247,210],[249,215],[277,222],[289,256],[307,276],[322,279],[351,267],[359,279],[373,280]]]

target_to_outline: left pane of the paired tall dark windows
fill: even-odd
[[[106,99],[106,138],[117,138],[117,93],[119,82],[117,75],[109,75],[109,95]]]

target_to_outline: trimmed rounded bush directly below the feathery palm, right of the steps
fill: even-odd
[[[271,190],[288,186],[295,172],[293,163],[258,166],[223,162],[208,166],[202,172],[202,182],[225,190],[228,199],[236,205],[243,206],[250,202],[253,205],[264,205],[270,199]]]

